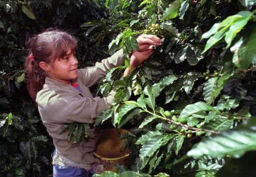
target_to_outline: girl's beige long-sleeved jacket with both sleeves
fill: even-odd
[[[79,84],[82,93],[71,85],[46,77],[42,90],[36,95],[36,103],[42,122],[60,155],[73,162],[87,165],[97,161],[92,155],[99,136],[94,132],[94,128],[91,129],[88,141],[84,144],[67,141],[67,131],[62,133],[61,128],[65,123],[93,123],[93,118],[111,105],[114,91],[107,97],[93,98],[88,87],[96,83],[100,77],[104,77],[110,68],[123,64],[124,55],[122,50],[119,50],[93,67],[79,69],[78,78],[74,83]]]

